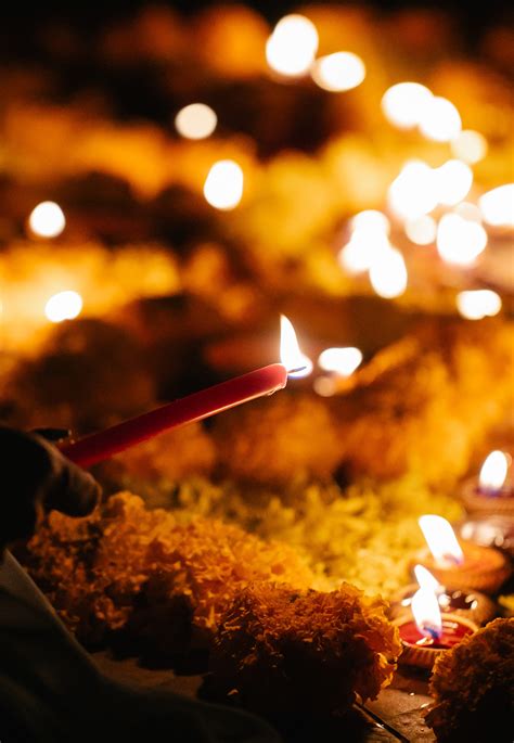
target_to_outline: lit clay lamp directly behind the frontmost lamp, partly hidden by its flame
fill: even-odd
[[[483,625],[496,615],[494,603],[484,593],[478,591],[463,591],[452,587],[441,586],[426,567],[414,566],[416,584],[410,584],[401,589],[391,602],[390,616],[398,618],[410,614],[412,599],[420,588],[432,590],[444,612],[451,612],[461,617],[471,619],[477,625]]]

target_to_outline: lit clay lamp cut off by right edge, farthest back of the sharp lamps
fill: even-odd
[[[468,513],[514,516],[514,483],[507,479],[511,458],[503,451],[491,451],[477,477],[465,481],[461,490]]]

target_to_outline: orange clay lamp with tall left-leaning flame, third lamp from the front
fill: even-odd
[[[494,593],[511,574],[505,556],[490,547],[460,542],[450,523],[436,515],[421,516],[427,548],[416,562],[427,567],[444,586]]]

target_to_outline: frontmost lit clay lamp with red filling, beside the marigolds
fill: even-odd
[[[436,658],[461,642],[478,627],[471,619],[457,614],[446,614],[433,588],[420,588],[411,601],[411,615],[395,620],[403,652],[400,664],[431,669]]]

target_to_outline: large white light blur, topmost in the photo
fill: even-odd
[[[314,24],[297,13],[279,21],[266,43],[269,66],[287,77],[305,75],[317,51],[318,31]]]

